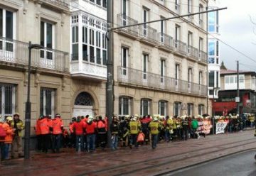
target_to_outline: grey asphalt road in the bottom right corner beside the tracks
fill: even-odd
[[[171,172],[166,176],[256,176],[255,154],[256,150],[250,150]]]

